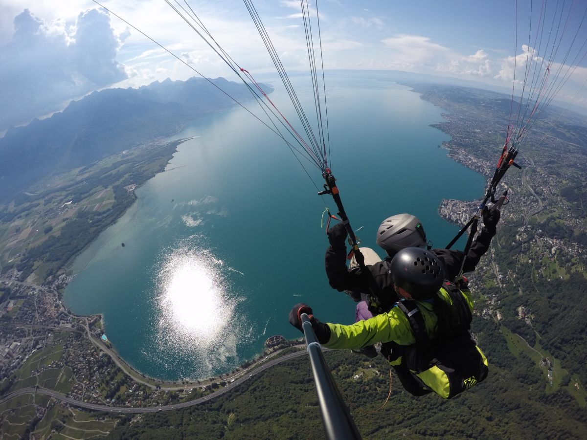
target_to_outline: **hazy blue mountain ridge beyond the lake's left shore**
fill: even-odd
[[[252,99],[244,84],[212,79],[237,100]],[[272,91],[264,85],[264,90]],[[170,136],[190,120],[235,103],[203,78],[107,89],[0,138],[0,202],[46,175],[88,165],[152,138]]]

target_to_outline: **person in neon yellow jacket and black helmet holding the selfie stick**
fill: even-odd
[[[306,313],[318,341],[333,349],[391,344],[387,358],[404,388],[414,395],[436,392],[451,398],[487,377],[483,352],[471,339],[473,302],[466,284],[445,280],[444,263],[433,252],[410,247],[390,262],[397,297],[389,312],[352,325],[322,323],[307,304],[296,304],[289,322],[302,330]]]

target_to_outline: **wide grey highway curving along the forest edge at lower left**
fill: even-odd
[[[328,348],[322,348],[322,350],[329,351]],[[19,395],[23,395],[23,394],[44,394],[44,395],[48,395],[50,397],[53,397],[56,400],[60,400],[62,402],[65,402],[66,404],[72,405],[74,407],[92,409],[93,411],[107,411],[107,412],[114,412],[114,413],[120,412],[121,414],[122,413],[142,414],[144,412],[172,411],[174,409],[193,407],[194,405],[199,405],[201,403],[208,402],[208,401],[215,399],[218,396],[224,394],[225,392],[231,391],[232,388],[237,387],[238,385],[251,379],[253,376],[255,376],[257,374],[262,373],[267,368],[271,368],[274,365],[282,363],[286,360],[293,359],[295,357],[304,356],[305,354],[308,354],[308,351],[302,350],[302,351],[297,351],[296,353],[286,354],[285,356],[273,359],[271,361],[268,361],[266,364],[261,365],[261,367],[255,368],[255,370],[252,370],[251,373],[244,375],[243,377],[228,384],[226,387],[220,388],[220,390],[212,392],[212,394],[208,394],[207,396],[204,396],[204,397],[200,397],[200,398],[197,398],[194,400],[190,400],[187,402],[181,402],[181,403],[173,404],[173,405],[162,405],[159,407],[143,407],[143,408],[109,407],[107,405],[98,405],[98,404],[92,404],[89,402],[83,402],[80,400],[75,400],[75,399],[67,397],[65,394],[62,394],[57,391],[49,390],[49,388],[43,388],[43,387],[38,387],[38,388],[28,387],[28,388],[21,388],[21,390],[12,391],[11,393],[7,394],[6,397],[4,397],[4,398],[2,398],[2,400],[0,400],[0,404],[4,404],[4,402],[7,402],[7,401],[9,401]]]

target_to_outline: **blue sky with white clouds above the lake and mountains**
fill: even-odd
[[[234,79],[222,61],[164,0],[105,0],[103,4],[177,53],[203,75]],[[300,2],[255,0],[254,4],[286,69],[306,70],[308,57]],[[516,2],[511,0],[321,0],[318,9],[325,67],[404,70],[511,88],[515,50],[516,86],[521,87],[521,73],[528,55],[542,53],[535,52],[539,45],[535,23],[541,16],[552,15],[556,2],[518,0],[517,4],[516,44]],[[316,2],[309,5],[315,12]],[[578,31],[577,51],[587,39],[587,20],[579,28],[587,5],[582,1],[572,5],[575,9],[561,48],[568,48]],[[191,0],[190,6],[242,67],[252,73],[273,70],[242,1]],[[23,12],[25,8],[27,11]],[[89,12],[95,8],[96,4],[86,0],[2,2],[0,62],[6,67],[0,71],[0,99],[14,106],[5,105],[5,109],[11,110],[0,112],[0,130],[6,128],[6,121],[26,122],[31,117],[59,110],[68,100],[93,90],[137,87],[167,77],[186,79],[194,75],[116,17],[103,11]],[[529,28],[530,23],[533,28]],[[543,49],[544,46],[543,42]],[[581,50],[585,53],[587,46]],[[559,50],[557,55],[555,60],[562,59],[564,50]],[[581,88],[587,79],[585,66],[587,59],[582,59],[556,96],[557,101],[573,100],[574,104],[587,107],[587,88]]]

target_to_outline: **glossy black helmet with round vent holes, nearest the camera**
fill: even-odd
[[[393,257],[390,270],[393,283],[413,299],[433,297],[444,281],[444,266],[432,252],[422,248],[404,248]]]

